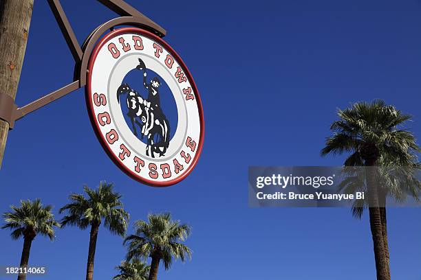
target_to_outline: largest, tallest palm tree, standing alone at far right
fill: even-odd
[[[417,152],[420,152],[415,137],[402,125],[411,119],[382,100],[368,104],[360,102],[351,108],[338,110],[338,121],[334,121],[331,130],[334,135],[326,139],[322,155],[350,155],[345,166],[376,166],[394,164],[410,166],[417,164]],[[378,280],[390,280],[389,244],[387,242],[386,209],[382,199],[387,194],[378,189],[376,170],[367,168],[367,189],[369,191],[369,220],[373,237],[374,257]],[[358,215],[361,205],[354,208]],[[362,213],[362,212],[360,212]]]

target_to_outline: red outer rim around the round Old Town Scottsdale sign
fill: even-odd
[[[199,118],[200,118],[200,137],[199,142],[197,144],[197,152],[195,154],[195,157],[193,158],[193,161],[190,165],[188,165],[186,172],[184,172],[181,176],[173,179],[168,180],[164,182],[156,182],[154,180],[149,180],[147,178],[142,178],[138,176],[135,172],[132,170],[129,170],[125,165],[120,163],[120,159],[111,151],[111,148],[109,148],[109,145],[106,143],[106,139],[102,137],[102,134],[100,132],[100,128],[98,126],[98,122],[96,121],[96,115],[94,112],[94,104],[92,103],[91,98],[91,73],[92,69],[94,67],[94,63],[96,60],[96,57],[98,56],[98,52],[100,51],[101,47],[105,45],[111,38],[114,38],[116,36],[119,36],[121,34],[126,33],[138,33],[142,34],[143,36],[146,36],[152,40],[155,40],[155,42],[159,43],[164,47],[169,53],[177,60],[177,62],[180,64],[182,69],[184,70],[184,73],[186,74],[188,81],[190,82],[193,91],[195,92],[195,99],[197,102],[197,106],[199,108]],[[186,65],[184,64],[184,61],[180,58],[180,56],[174,51],[168,43],[166,43],[162,38],[155,36],[151,32],[148,32],[146,30],[142,30],[138,27],[122,27],[117,30],[111,31],[109,34],[104,36],[102,39],[99,40],[99,42],[96,44],[96,47],[94,48],[94,51],[92,51],[91,56],[89,57],[89,64],[88,64],[88,71],[87,71],[87,83],[85,86],[85,99],[86,99],[86,105],[88,109],[88,115],[89,119],[91,120],[92,127],[94,128],[96,137],[98,138],[98,141],[100,141],[100,144],[102,145],[102,148],[107,152],[109,158],[114,161],[114,164],[116,164],[122,172],[125,172],[127,175],[129,175],[134,180],[137,180],[140,183],[144,183],[146,185],[149,185],[151,187],[169,187],[171,185],[180,183],[180,181],[184,180],[190,172],[193,170],[195,165],[197,164],[197,161],[199,160],[200,154],[202,153],[202,147],[204,142],[204,113],[203,113],[203,107],[202,107],[202,101],[200,99],[199,91],[197,91],[197,86],[195,84],[195,81],[193,80],[193,76],[191,75],[190,71],[188,71]],[[145,166],[146,167],[146,166]]]

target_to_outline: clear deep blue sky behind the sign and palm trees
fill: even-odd
[[[72,56],[47,4],[36,0],[17,104],[71,82]],[[94,0],[62,1],[79,42],[114,17]],[[133,221],[171,211],[193,226],[193,260],[160,279],[375,279],[367,216],[349,209],[250,209],[248,165],[341,165],[319,151],[336,108],[377,98],[414,115],[421,137],[421,1],[129,1],[168,31],[202,96],[206,137],[195,170],[155,189],[120,172],[91,128],[83,89],[28,115],[10,132],[0,210],[41,198],[58,208],[100,180],[114,182]],[[0,265],[22,241],[0,231]],[[43,279],[85,277],[89,231],[36,237]],[[393,279],[421,279],[421,209],[389,209]],[[122,239],[100,229],[95,279],[111,279]]]

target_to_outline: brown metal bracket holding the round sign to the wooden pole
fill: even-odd
[[[131,7],[131,5],[125,1],[98,0],[100,3],[107,6],[107,8],[119,14],[121,17],[100,25],[100,27],[98,27],[96,30],[94,30],[94,32],[91,33],[91,35],[88,36],[82,48],[80,47],[76,35],[72,30],[72,26],[70,25],[67,16],[61,6],[60,0],[47,1],[58,23],[58,26],[60,27],[61,33],[66,40],[67,46],[72,53],[75,61],[75,69],[76,67],[83,67],[87,64],[87,58],[85,58],[85,55],[90,55],[91,49],[89,49],[89,47],[85,49],[85,45],[89,45],[88,43],[92,38],[98,38],[97,33],[103,30],[104,27],[114,28],[114,26],[119,24],[136,23],[142,27],[146,27],[148,30],[160,37],[163,37],[166,34],[164,28],[160,27],[160,25],[153,22],[147,16]],[[5,93],[0,93],[0,119],[7,121],[9,124],[9,129],[12,129],[14,127],[14,121],[17,121],[18,119],[25,117],[25,115],[34,112],[34,110],[38,110],[39,108],[50,104],[55,100],[58,100],[58,98],[61,98],[69,93],[72,93],[73,91],[76,91],[76,89],[80,89],[80,87],[85,86],[86,70],[84,71],[85,72],[78,73],[78,78],[77,75],[75,75],[74,81],[72,83],[67,84],[63,88],[39,98],[39,100],[35,100],[28,105],[22,106],[21,108],[18,108],[18,106],[14,104],[14,101],[10,96],[6,95]]]

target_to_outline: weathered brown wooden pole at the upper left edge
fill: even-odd
[[[0,93],[16,97],[34,0],[0,0]],[[9,124],[0,119],[0,167]]]

